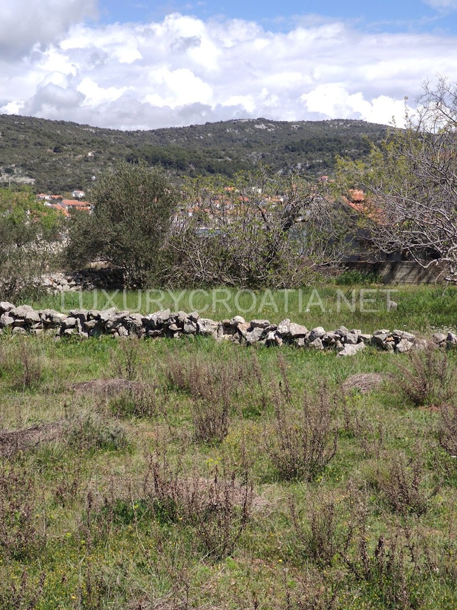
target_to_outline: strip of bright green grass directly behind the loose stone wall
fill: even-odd
[[[388,310],[388,301],[398,303],[397,310]],[[316,285],[300,290],[149,290],[88,291],[46,296],[34,303],[37,308],[57,310],[107,309],[152,313],[169,307],[172,311],[197,310],[202,317],[223,320],[243,315],[246,320],[266,318],[278,323],[288,317],[308,328],[324,326],[335,329],[362,328],[370,332],[380,328],[408,328],[423,332],[431,328],[457,326],[457,287],[431,285]]]

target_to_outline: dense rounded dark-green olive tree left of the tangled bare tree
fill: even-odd
[[[126,285],[160,281],[163,243],[177,203],[166,174],[144,163],[121,162],[91,192],[93,211],[69,220],[66,259],[73,267],[104,260],[124,272]]]

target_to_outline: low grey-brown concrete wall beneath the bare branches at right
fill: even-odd
[[[420,267],[413,260],[386,260],[383,262],[347,262],[348,269],[360,273],[378,273],[384,284],[433,284],[444,281],[442,265],[431,265],[428,269]]]

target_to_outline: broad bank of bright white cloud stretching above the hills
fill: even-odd
[[[52,0],[43,1],[49,12]],[[69,5],[83,15],[94,1]],[[66,34],[69,20],[61,23],[48,46],[34,38],[20,67],[4,57],[0,112],[121,129],[246,117],[401,124],[403,98],[414,99],[423,79],[457,80],[457,37],[361,34],[328,20],[269,32],[177,13],[160,23],[75,23]]]

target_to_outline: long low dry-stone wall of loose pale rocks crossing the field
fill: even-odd
[[[0,333],[51,334],[56,339],[88,339],[102,335],[179,339],[183,335],[200,335],[218,342],[231,341],[242,345],[294,345],[318,351],[335,350],[338,356],[353,356],[367,344],[397,353],[414,347],[423,348],[427,344],[412,333],[395,329],[380,329],[373,334],[344,326],[334,331],[325,331],[322,326],[308,330],[289,319],[271,324],[269,320],[246,321],[237,315],[231,320],[215,321],[201,318],[197,312],[186,314],[169,309],[147,315],[117,311],[114,307],[106,310],[75,309],[66,315],[52,309],[35,310],[29,305],[15,307],[5,301],[0,303]],[[436,345],[457,346],[457,335],[452,332],[437,332],[432,340]]]

